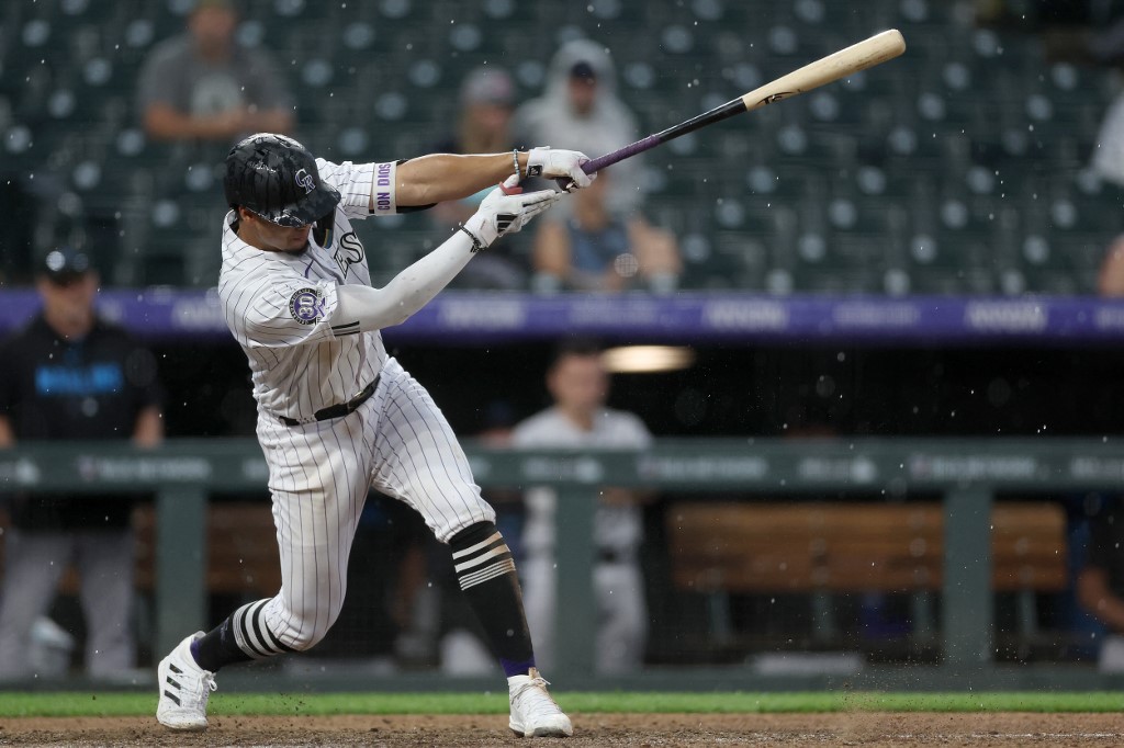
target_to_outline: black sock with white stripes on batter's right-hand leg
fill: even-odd
[[[535,666],[535,651],[519,577],[504,536],[493,523],[478,522],[453,536],[448,545],[456,580],[504,672],[509,677],[526,675]]]

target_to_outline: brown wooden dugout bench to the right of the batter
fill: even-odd
[[[905,593],[913,637],[935,638],[934,593],[944,583],[939,502],[678,502],[665,514],[672,580],[707,601],[710,636],[732,637],[729,595],[806,594],[813,638],[837,640],[832,598]],[[1037,632],[1037,594],[1069,584],[1066,514],[1057,502],[996,504],[991,589],[1017,595],[1022,641]]]

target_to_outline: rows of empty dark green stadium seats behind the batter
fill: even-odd
[[[697,249],[689,283],[790,283],[799,291],[807,281],[806,290],[834,290],[835,281],[805,271],[835,263],[836,277],[853,282],[852,290],[908,284],[977,292],[998,290],[1001,277],[1006,288],[1021,282],[1027,292],[1036,284],[1088,288],[1099,258],[1085,247],[1103,246],[1124,228],[1118,208],[1079,176],[1114,92],[1111,77],[1048,63],[1032,36],[976,28],[953,4],[248,0],[238,35],[268,45],[285,63],[299,95],[299,130],[321,153],[363,158],[426,150],[455,111],[461,72],[481,62],[514,61],[520,97],[538,93],[554,46],[575,36],[609,45],[620,95],[642,131],[655,131],[871,29],[898,27],[909,51],[892,64],[645,157],[653,219]],[[215,190],[214,175],[194,166],[197,159],[146,143],[132,110],[139,65],[153,45],[182,30],[187,8],[179,0],[16,3],[0,21],[7,39],[0,46],[6,166],[49,175],[47,182],[66,193],[52,200],[63,198],[69,210],[119,206],[128,227],[120,277],[143,275],[130,270],[140,256],[140,227],[154,232],[153,257],[162,247],[171,257],[148,262],[164,268],[152,275],[174,275],[167,270],[175,265],[174,228],[164,236],[152,225],[142,208],[146,198],[148,208],[166,195],[184,201],[180,218],[190,220],[192,201],[210,200]],[[542,28],[558,33],[543,39],[534,31]],[[825,180],[823,201],[809,202],[809,190]],[[926,199],[912,188],[918,182],[933,185]],[[1035,201],[1028,191],[1042,197]],[[686,207],[691,201],[694,211]],[[877,201],[888,201],[886,215],[868,221],[868,203]],[[987,206],[1013,211],[1017,231],[981,225]],[[810,227],[803,259],[800,232],[785,218],[796,215]],[[410,248],[397,255],[404,258],[424,231],[382,227],[380,237],[396,245],[399,230],[417,234],[402,235],[397,245]],[[1028,255],[1021,254],[1016,235],[1037,237]],[[932,238],[928,248],[915,241],[918,236]],[[988,243],[1003,245],[999,265],[985,250]],[[738,254],[740,245],[754,248]],[[787,253],[799,262],[783,259]],[[1070,262],[1061,264],[1059,253]],[[844,272],[859,262],[876,270]],[[957,263],[976,266],[953,272]]]

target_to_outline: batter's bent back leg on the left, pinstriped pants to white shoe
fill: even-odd
[[[259,441],[270,464],[281,590],[238,608],[210,632],[188,637],[164,658],[158,673],[162,724],[206,728],[207,699],[219,668],[309,649],[336,621],[369,491],[363,431],[372,417],[364,405],[345,418],[306,426],[265,418],[259,422]]]

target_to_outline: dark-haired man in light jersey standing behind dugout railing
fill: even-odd
[[[563,345],[546,373],[546,386],[554,405],[517,425],[511,446],[643,449],[651,443],[651,435],[636,416],[605,407],[609,377],[597,347],[582,343]],[[607,487],[597,510],[593,590],[599,621],[597,666],[604,674],[627,673],[643,660],[647,606],[638,551],[643,539],[641,504],[649,499],[642,492]],[[553,662],[558,620],[556,494],[553,489],[533,487],[524,501],[523,600],[538,658]]]

